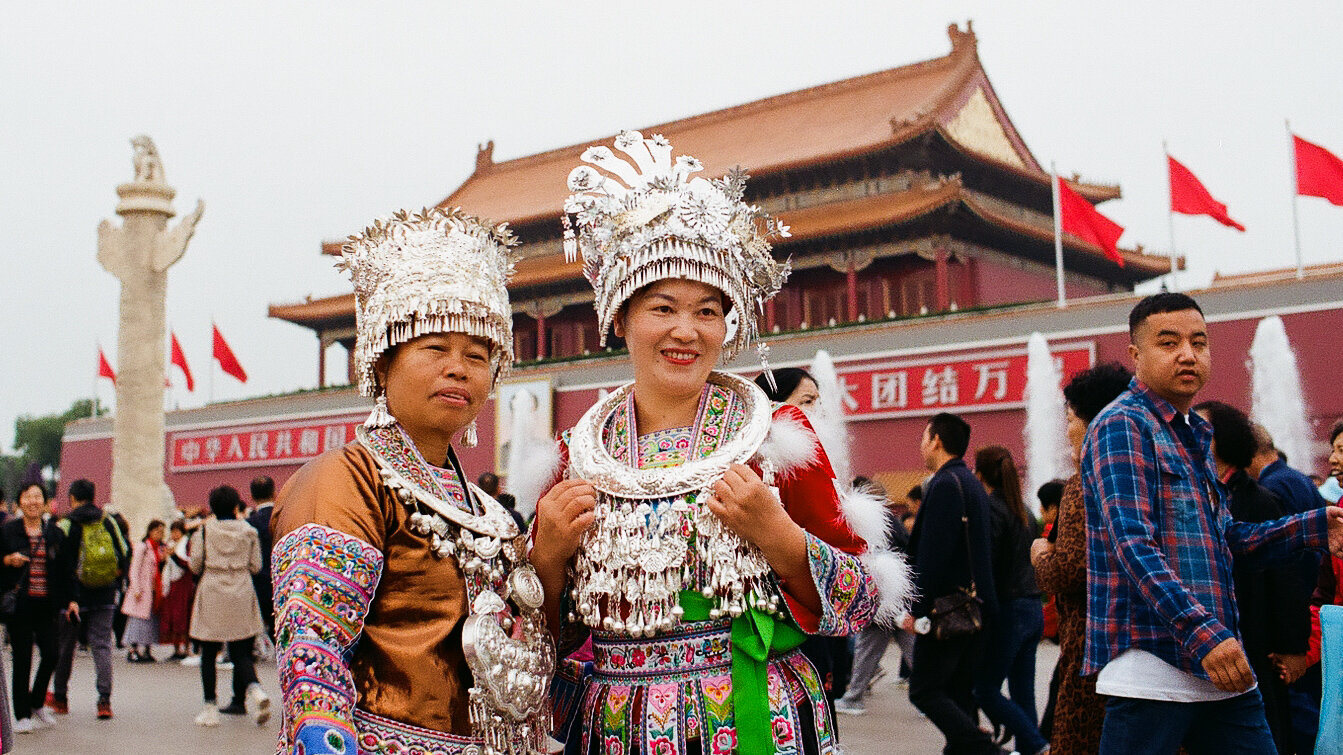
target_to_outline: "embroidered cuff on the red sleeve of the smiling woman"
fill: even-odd
[[[807,634],[843,637],[861,631],[877,613],[877,583],[862,558],[807,533],[807,563],[821,594],[821,615],[788,601],[794,618]],[[808,626],[811,625],[811,626]]]

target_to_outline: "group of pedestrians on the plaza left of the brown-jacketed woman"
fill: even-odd
[[[17,513],[0,524],[0,615],[12,650],[7,707],[13,725],[5,734],[32,734],[70,713],[74,657],[93,657],[94,715],[111,719],[113,653],[126,662],[154,664],[156,645],[169,645],[167,661],[199,665],[205,707],[200,725],[218,725],[219,713],[270,717],[270,699],[252,668],[257,639],[269,645],[270,579],[266,574],[269,510],[274,482],[252,481],[250,509],[231,486],[211,492],[210,510],[179,513],[171,524],[152,520],[132,541],[125,517],[94,504],[94,485],[75,480],[67,489],[70,510],[52,513],[42,480],[23,482]],[[259,513],[258,513],[259,512]],[[255,575],[255,579],[254,579]],[[215,704],[216,657],[227,645],[234,696]],[[38,666],[32,661],[36,652]],[[8,716],[0,716],[5,723]]]

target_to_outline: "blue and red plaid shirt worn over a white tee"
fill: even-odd
[[[1233,521],[1211,439],[1207,420],[1186,420],[1136,378],[1088,429],[1082,674],[1138,648],[1209,678],[1203,657],[1238,637],[1232,556],[1272,566],[1297,548],[1327,547],[1324,509]]]

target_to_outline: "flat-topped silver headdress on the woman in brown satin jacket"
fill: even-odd
[[[490,341],[494,379],[513,364],[508,301],[517,239],[459,208],[396,212],[353,235],[336,263],[355,282],[355,369],[359,392],[379,399],[369,427],[393,419],[373,365],[384,351],[426,333],[466,333]]]

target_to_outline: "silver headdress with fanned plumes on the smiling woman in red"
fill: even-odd
[[[732,359],[757,335],[764,302],[779,293],[788,263],[770,254],[770,236],[788,227],[741,200],[747,175],[735,168],[714,180],[690,179],[702,171],[689,154],[672,159],[661,134],[615,137],[622,159],[607,146],[590,146],[569,173],[564,202],[564,254],[583,253],[583,274],[596,290],[602,345],[620,305],[634,292],[665,278],[685,278],[727,294],[737,313],[736,333],[724,344]],[[569,215],[573,226],[569,226]]]

